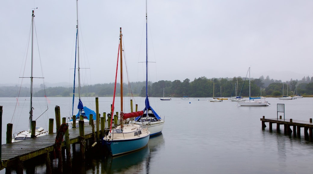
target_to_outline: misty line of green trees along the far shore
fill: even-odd
[[[302,80],[290,80],[282,82],[281,80],[264,78],[250,80],[251,97],[301,94],[313,95],[313,77],[304,77]],[[185,79],[183,81],[160,80],[158,82],[148,82],[148,95],[150,97],[162,97],[163,89],[165,97],[231,97],[236,94],[243,97],[249,97],[249,78],[233,77],[231,78],[195,78],[193,81]],[[121,93],[119,84],[117,84],[116,95]],[[284,89],[283,89],[284,88]],[[287,91],[288,88],[288,91]],[[19,91],[19,94],[17,93]],[[78,91],[76,88],[75,91]],[[85,85],[81,87],[82,96],[105,97],[112,96],[114,83]],[[284,94],[283,94],[284,91]],[[297,92],[295,92],[297,91]],[[146,96],[146,82],[130,82],[123,84],[123,94],[133,96]],[[49,87],[44,88],[40,85],[34,88],[34,97],[69,97],[73,95],[73,88],[68,87]],[[77,95],[77,94],[76,94]],[[30,96],[29,88],[17,86],[0,87],[0,97],[25,97]]]

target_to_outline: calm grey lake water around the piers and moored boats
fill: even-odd
[[[139,109],[144,99],[135,98]],[[190,98],[150,103],[165,118],[163,133],[151,138],[141,151],[120,157],[92,157],[85,163],[76,163],[75,173],[312,173],[313,143],[301,137],[262,130],[260,118],[276,118],[277,104],[285,104],[285,118],[307,120],[313,118],[313,98],[279,100],[267,98],[267,107],[237,106],[236,102],[208,102],[209,98]],[[39,99],[41,100],[41,99]],[[95,99],[85,102],[95,108]],[[119,100],[119,99],[117,99]],[[3,105],[2,143],[5,143],[6,124],[11,122],[14,98],[0,98]],[[129,99],[124,99],[129,103]],[[54,118],[54,107],[60,106],[61,117],[71,115],[70,98],[49,98],[48,117]],[[83,99],[84,102],[84,99]],[[112,98],[99,98],[99,112],[109,112]],[[116,101],[115,110],[120,104]],[[27,99],[26,99],[27,103]],[[22,105],[19,102],[20,106]],[[129,109],[125,104],[124,111]],[[28,106],[28,105],[27,105]],[[75,104],[77,106],[77,104]],[[26,107],[27,108],[27,107]],[[28,109],[28,108],[27,108]],[[27,110],[26,109],[26,110]],[[40,110],[35,107],[35,110]],[[27,128],[28,111],[13,123],[13,132]],[[76,114],[76,110],[75,110]],[[279,113],[283,115],[283,113]],[[47,116],[37,120],[37,126],[48,127]],[[45,118],[45,119],[44,119]],[[20,125],[26,123],[25,125]],[[15,127],[19,129],[14,131]],[[73,157],[72,156],[72,157]],[[54,162],[57,166],[57,163]],[[74,166],[74,164],[73,164]],[[5,170],[0,171],[4,173]],[[45,165],[38,165],[37,173],[45,173]]]

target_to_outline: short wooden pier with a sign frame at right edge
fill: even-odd
[[[276,130],[277,132],[280,132],[280,125],[284,125],[284,132],[288,135],[291,135],[293,133],[294,136],[297,136],[300,138],[300,128],[304,128],[304,135],[310,142],[313,142],[313,123],[312,118],[310,118],[310,121],[302,121],[302,120],[293,120],[293,119],[282,119],[280,118],[260,118],[262,121],[262,128],[265,128],[265,123],[269,123],[269,131],[272,131],[272,124],[276,123]],[[292,126],[292,129],[290,128]],[[309,130],[309,133],[308,133]]]

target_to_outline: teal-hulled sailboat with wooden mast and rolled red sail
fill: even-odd
[[[137,117],[142,115],[144,111],[137,111],[131,113],[124,113],[123,111],[123,63],[122,63],[122,28],[120,28],[120,68],[121,68],[121,115],[120,115],[120,125],[116,128],[112,128],[112,119],[110,125],[109,133],[103,138],[102,144],[105,145],[112,156],[121,155],[124,153],[132,152],[143,147],[146,147],[150,138],[150,132],[148,131],[147,125],[139,124],[125,124],[127,118]],[[118,59],[117,59],[118,60]],[[116,79],[118,63],[116,65],[115,73],[115,86],[113,93],[113,103],[111,107],[111,115],[114,113],[114,102],[115,102],[115,91],[116,91]]]

